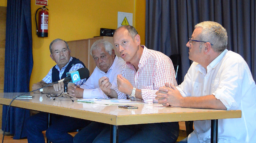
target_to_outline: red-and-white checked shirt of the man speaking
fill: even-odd
[[[175,71],[172,61],[169,57],[161,52],[148,49],[141,45],[143,53],[139,61],[139,69],[136,72],[134,66],[130,62],[126,62],[122,67],[122,76],[125,77],[132,86],[141,89],[143,100],[136,98],[136,101],[144,101],[145,103],[157,102],[155,93],[159,87],[165,83],[172,83],[177,86],[175,79]],[[117,90],[118,98],[124,99],[123,96],[129,97]]]

